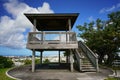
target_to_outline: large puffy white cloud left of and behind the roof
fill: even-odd
[[[9,0],[3,6],[12,16],[0,17],[0,46],[10,48],[24,48],[26,45],[27,35],[24,33],[32,29],[32,24],[24,13],[54,13],[47,2],[40,7],[33,8],[18,0]]]

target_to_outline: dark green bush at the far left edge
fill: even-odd
[[[0,56],[0,68],[10,68],[12,65],[13,62],[11,59]]]

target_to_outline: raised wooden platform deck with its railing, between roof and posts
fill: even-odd
[[[49,39],[50,36],[53,37],[53,35],[57,39]],[[47,38],[45,38],[45,36],[47,36]],[[77,49],[78,42],[74,32],[30,32],[27,48],[35,50]]]

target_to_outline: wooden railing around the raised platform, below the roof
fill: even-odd
[[[75,32],[30,32],[28,43],[76,44]]]

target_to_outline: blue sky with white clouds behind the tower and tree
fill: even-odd
[[[25,45],[32,24],[23,13],[80,13],[72,29],[78,33],[76,25],[118,10],[120,0],[0,0],[0,55],[31,55]]]

